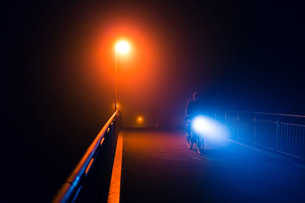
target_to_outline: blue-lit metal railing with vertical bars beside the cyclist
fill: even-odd
[[[226,138],[305,159],[305,116],[226,111],[215,119]]]

